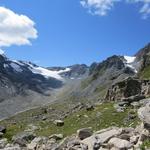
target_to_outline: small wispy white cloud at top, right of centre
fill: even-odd
[[[88,11],[94,15],[105,16],[110,11],[114,3],[120,0],[80,0],[83,7],[88,8]]]

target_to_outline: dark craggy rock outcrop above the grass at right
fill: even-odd
[[[140,80],[128,77],[109,88],[105,99],[107,101],[139,101],[150,96],[150,80]]]

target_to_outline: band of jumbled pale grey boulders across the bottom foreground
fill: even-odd
[[[34,134],[36,126],[31,126],[12,137],[12,142],[2,138],[6,132],[0,127],[0,149],[4,150],[138,150],[143,142],[150,139],[150,102],[138,109],[141,124],[136,128],[110,127],[100,131],[92,128],[82,128],[77,133],[63,138],[62,134],[49,137],[37,137]],[[63,126],[64,122],[55,120],[56,126]],[[148,149],[145,147],[145,149]]]

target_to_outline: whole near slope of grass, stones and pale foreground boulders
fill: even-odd
[[[0,122],[0,149],[148,149],[148,102],[64,102],[29,110]]]

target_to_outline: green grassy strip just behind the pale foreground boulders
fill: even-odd
[[[12,138],[13,135],[17,134],[18,132],[24,131],[24,129],[30,123],[40,127],[39,130],[35,131],[38,136],[50,136],[57,133],[62,133],[64,136],[68,136],[76,133],[78,129],[86,127],[92,127],[93,130],[97,131],[110,126],[124,127],[137,125],[139,121],[137,117],[130,121],[125,121],[128,113],[131,111],[130,108],[126,109],[125,112],[118,113],[116,112],[113,105],[114,103],[103,103],[96,106],[95,109],[91,111],[83,109],[76,113],[72,113],[64,119],[65,124],[62,127],[56,126],[53,121],[49,119],[45,121],[31,121],[31,116],[35,114],[37,115],[39,113],[39,111],[36,109],[18,114],[18,120],[15,119],[17,118],[17,116],[15,116],[0,122],[0,124],[7,126],[7,132],[4,136],[9,140]],[[62,107],[60,107],[59,105],[57,108],[61,109]],[[14,120],[16,121],[15,124],[12,123]]]

